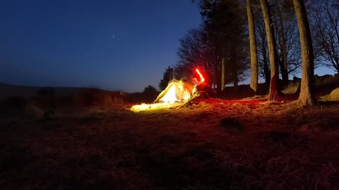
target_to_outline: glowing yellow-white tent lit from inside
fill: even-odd
[[[167,85],[166,89],[162,91],[153,103],[176,101],[184,102],[191,98],[196,85],[188,80],[175,80],[173,79]]]

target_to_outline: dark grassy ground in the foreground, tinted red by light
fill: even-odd
[[[210,99],[6,115],[0,189],[338,188],[339,106],[289,105]]]

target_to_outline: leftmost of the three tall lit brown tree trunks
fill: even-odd
[[[251,84],[250,87],[258,90],[258,53],[256,50],[256,32],[254,27],[251,0],[246,0],[247,19],[249,20],[249,49],[251,50]]]

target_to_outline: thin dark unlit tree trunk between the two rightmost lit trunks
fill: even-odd
[[[277,10],[278,10],[278,18],[279,18],[279,45],[281,47],[281,53],[283,57],[283,63],[280,65],[281,70],[281,77],[283,78],[283,85],[284,88],[287,87],[288,84],[288,72],[287,72],[287,51],[286,51],[286,39],[285,39],[285,31],[284,31],[284,25],[283,25],[283,18],[280,12],[280,7],[278,4],[278,1],[275,1],[277,4]]]

